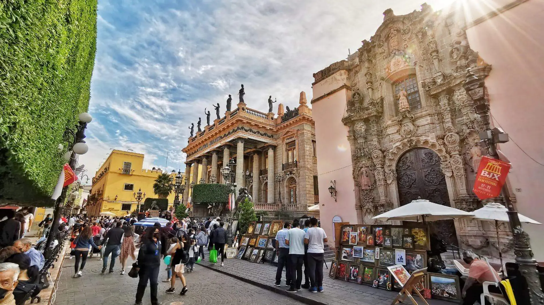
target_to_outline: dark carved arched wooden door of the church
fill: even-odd
[[[399,158],[397,184],[400,205],[421,197],[435,204],[450,206],[446,177],[440,168],[440,157],[428,148],[411,149]],[[447,244],[458,246],[453,220],[433,221],[430,223],[430,231]]]

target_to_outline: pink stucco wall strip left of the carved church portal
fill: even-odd
[[[339,71],[314,85],[313,98],[318,99],[341,87],[346,77],[345,71]],[[357,223],[348,129],[342,123],[349,95],[347,88],[343,88],[312,103],[312,117],[316,122],[319,215],[330,244],[333,241],[333,217],[339,216],[342,221]],[[336,180],[336,202],[329,193],[331,180]]]

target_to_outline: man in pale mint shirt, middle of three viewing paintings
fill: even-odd
[[[300,228],[300,223],[297,219],[293,221],[293,228],[287,231],[285,243],[289,245],[289,260],[291,272],[291,285],[286,291],[288,293],[296,293],[300,290],[302,284],[302,265],[304,264],[304,238],[306,232]]]

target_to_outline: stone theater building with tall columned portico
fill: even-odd
[[[293,217],[308,213],[319,196],[315,125],[306,93],[300,93],[298,107],[286,109],[279,104],[275,116],[241,101],[189,137],[182,149],[187,154],[186,173],[201,177],[195,183],[225,183],[221,168],[233,158],[237,187],[248,188],[257,211]],[[189,188],[187,181],[184,204]]]

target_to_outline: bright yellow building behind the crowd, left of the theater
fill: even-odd
[[[141,189],[145,198],[158,198],[153,192],[153,183],[163,173],[158,169],[143,169],[144,155],[129,151],[112,150],[102,166],[92,178],[92,188],[87,199],[88,215],[96,216],[103,212],[126,215],[137,208],[134,193]],[[169,173],[174,183],[176,172]],[[182,173],[182,182],[185,174]],[[180,194],[180,202],[182,194]],[[144,204],[141,200],[140,205]],[[169,208],[174,205],[174,190],[168,196]]]

